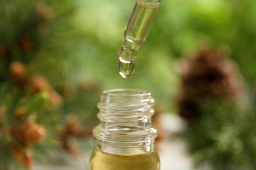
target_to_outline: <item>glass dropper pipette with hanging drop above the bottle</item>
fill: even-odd
[[[118,52],[119,73],[124,78],[133,75],[140,44],[146,40],[161,0],[137,0],[125,28],[125,41]]]

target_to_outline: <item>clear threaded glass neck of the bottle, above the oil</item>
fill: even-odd
[[[130,90],[127,95],[127,90],[118,90],[114,96],[101,96],[100,124],[93,129],[98,150],[124,156],[154,152],[158,134],[151,124],[154,99],[148,93],[134,93],[138,91]]]

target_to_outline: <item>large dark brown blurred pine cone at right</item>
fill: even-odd
[[[234,62],[208,48],[195,56],[182,59],[179,65],[181,89],[178,112],[185,120],[200,117],[200,101],[225,99],[238,102],[243,91],[243,80]]]

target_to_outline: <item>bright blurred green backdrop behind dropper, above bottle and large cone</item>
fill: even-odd
[[[104,89],[140,88],[173,110],[179,86],[175,63],[202,43],[223,47],[238,63],[255,93],[256,2],[228,0],[161,1],[152,29],[135,62],[135,74],[122,78],[117,52],[135,1],[76,1],[74,37],[66,64],[68,82],[96,80]],[[70,74],[71,73],[71,74]]]

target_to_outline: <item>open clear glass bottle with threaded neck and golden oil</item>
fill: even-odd
[[[151,124],[154,114],[151,93],[142,90],[106,90],[100,95],[93,129],[96,148],[91,170],[158,170],[160,159],[154,148],[158,131]]]

